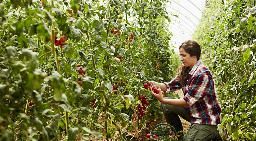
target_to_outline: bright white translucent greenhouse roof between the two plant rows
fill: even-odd
[[[172,32],[170,43],[175,47],[174,51],[179,52],[178,47],[185,40],[191,39],[199,19],[202,17],[202,10],[205,0],[170,0],[167,4],[169,13],[178,15],[172,17],[169,30]]]

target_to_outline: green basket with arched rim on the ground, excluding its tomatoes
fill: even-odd
[[[162,125],[169,126],[170,129],[169,129],[169,128],[164,128],[164,127],[162,127]],[[154,131],[156,128],[159,128],[159,127],[160,127],[160,129],[162,128],[162,129],[164,129],[164,130]],[[169,136],[169,133],[170,133],[171,131],[174,132],[174,135],[175,135],[176,130],[175,130],[175,128],[174,128],[172,125],[167,124],[167,123],[159,123],[159,124],[155,125],[155,126],[152,128],[152,130],[151,130],[151,132],[150,132],[150,134],[151,134],[152,136],[150,136],[150,138],[151,138],[153,141],[160,141],[159,139],[154,139],[154,138],[153,138],[153,135],[155,135],[155,133],[160,134],[160,136],[157,135],[158,137],[164,137],[163,135]]]

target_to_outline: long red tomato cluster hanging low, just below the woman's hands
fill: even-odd
[[[136,114],[139,117],[139,119],[142,119],[145,116],[146,108],[149,105],[149,102],[146,100],[146,95],[141,96],[141,103],[142,106],[138,105],[136,109]],[[138,115],[139,113],[139,115]],[[132,117],[132,120],[136,119],[134,116]]]

